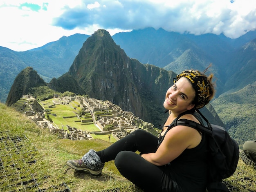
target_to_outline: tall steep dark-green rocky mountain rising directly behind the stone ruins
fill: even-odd
[[[68,74],[90,97],[110,100],[157,127],[166,119],[162,105],[176,76],[172,71],[130,59],[103,29],[86,40]],[[209,116],[213,122],[221,122],[211,113]]]

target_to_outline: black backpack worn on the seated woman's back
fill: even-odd
[[[229,136],[225,128],[209,123],[207,118],[198,109],[196,111],[202,116],[207,125],[201,125],[188,119],[179,119],[184,114],[193,114],[198,118],[196,113],[187,111],[180,114],[168,129],[177,125],[185,125],[205,133],[209,146],[209,178],[207,190],[209,192],[228,192],[229,190],[222,183],[222,179],[230,177],[236,171],[239,160],[238,144]],[[202,120],[198,120],[202,122]]]

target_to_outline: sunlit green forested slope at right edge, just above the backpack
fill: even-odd
[[[245,86],[237,92],[221,95],[213,105],[222,119],[229,134],[240,147],[247,140],[255,140],[256,128],[256,82]]]

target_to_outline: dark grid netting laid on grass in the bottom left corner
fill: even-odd
[[[33,170],[36,154],[36,147],[26,136],[12,135],[9,131],[0,132],[0,189],[6,192],[70,192],[65,183],[40,188],[38,180],[42,179],[38,179],[38,174]],[[43,179],[46,178],[43,176]]]

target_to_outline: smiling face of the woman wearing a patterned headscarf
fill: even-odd
[[[192,101],[195,98],[195,89],[192,87],[189,79],[182,77],[171,86],[165,96],[164,108],[171,112],[180,114],[195,106]]]

